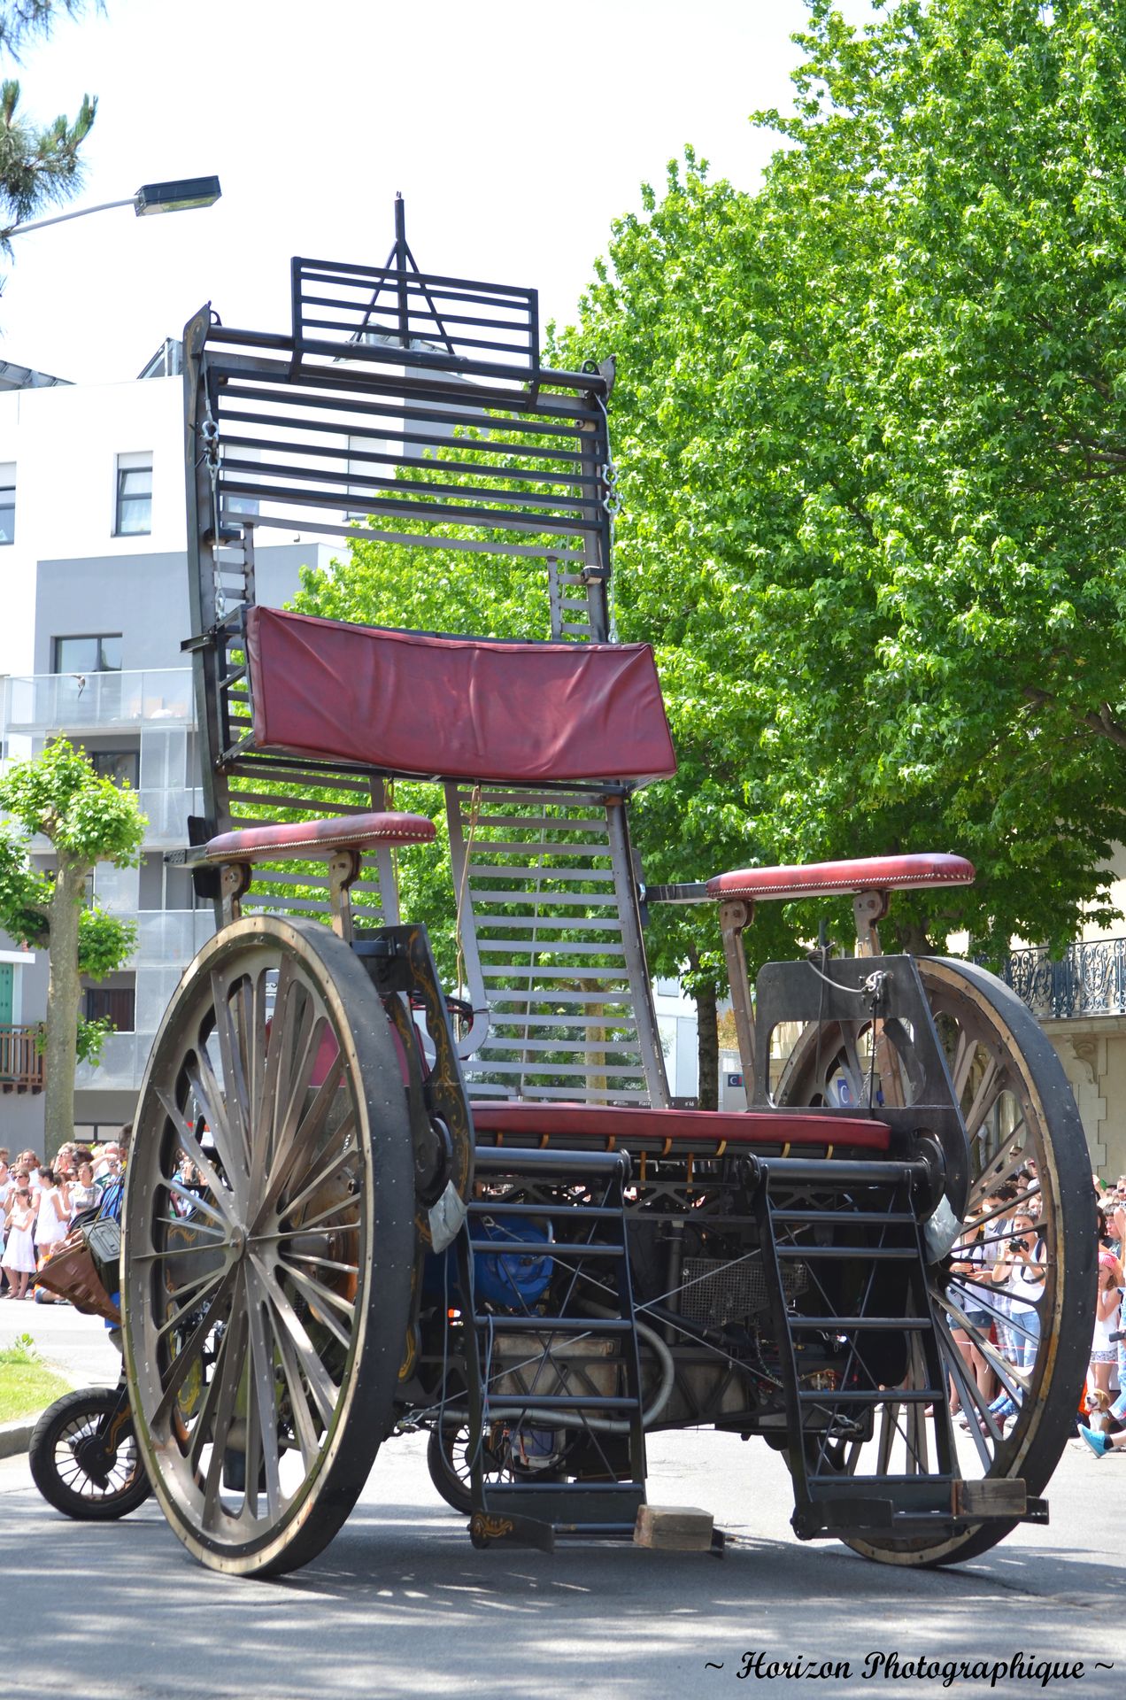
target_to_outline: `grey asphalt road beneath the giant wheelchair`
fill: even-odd
[[[31,1311],[31,1307],[26,1307]],[[20,1331],[0,1306],[0,1343]],[[34,1323],[32,1323],[34,1318]],[[97,1324],[20,1316],[63,1363],[87,1353],[112,1377]],[[85,1345],[83,1345],[85,1341]],[[1049,1491],[1051,1525],[1026,1527],[976,1562],[913,1572],[789,1532],[779,1457],[736,1436],[650,1442],[650,1499],[699,1504],[735,1535],[726,1557],[631,1547],[554,1556],[475,1552],[434,1493],[424,1436],[388,1443],[344,1532],[276,1583],[201,1569],[150,1503],[121,1523],[66,1522],[24,1459],[0,1464],[5,1700],[344,1700],[344,1697],[723,1697],[764,1690],[939,1695],[944,1673],[888,1674],[869,1654],[1038,1664],[1082,1678],[956,1678],[958,1695],[1126,1695],[1126,1454],[1075,1442]],[[752,1674],[771,1661],[832,1661],[849,1674]],[[1102,1666],[1097,1668],[1100,1661]]]

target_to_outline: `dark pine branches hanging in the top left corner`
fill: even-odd
[[[80,17],[100,10],[100,0],[0,0],[0,56],[19,60],[24,46],[49,36],[60,14]],[[97,100],[82,97],[77,117],[34,124],[20,112],[20,85],[0,82],[0,243],[41,207],[68,201],[82,187],[78,150],[90,134]]]

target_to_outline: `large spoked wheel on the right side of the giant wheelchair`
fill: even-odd
[[[970,1136],[970,1197],[963,1241],[930,1268],[930,1300],[954,1402],[956,1467],[964,1479],[1022,1479],[1041,1494],[1070,1435],[1087,1368],[1095,1300],[1095,1222],[1090,1158],[1072,1090],[1049,1040],[1021,1000],[993,974],[968,962],[920,957],[917,967]],[[876,1056],[873,1059],[873,1046]],[[910,1032],[886,1022],[803,1028],[782,1069],[776,1098],[786,1105],[864,1105],[869,1081],[884,1102],[910,1103]],[[1022,1178],[1027,1173],[1034,1180]],[[1015,1198],[997,1202],[997,1190]],[[1043,1287],[1034,1316],[1007,1314],[990,1278],[993,1260],[1027,1214],[1034,1226]],[[1032,1234],[1027,1236],[1032,1243]],[[1002,1350],[1004,1348],[1004,1350]],[[978,1391],[973,1365],[988,1365],[997,1397],[1015,1416],[1000,1421]],[[908,1372],[924,1377],[922,1365]],[[983,1377],[985,1379],[985,1377]],[[918,1380],[925,1386],[925,1380]],[[912,1474],[935,1457],[942,1409],[886,1406],[864,1447],[840,1447],[840,1469]],[[930,1438],[920,1430],[932,1428]],[[878,1464],[873,1460],[878,1459]],[[895,1488],[890,1486],[895,1498]],[[968,1527],[951,1538],[850,1540],[884,1564],[929,1566],[971,1559],[1002,1540],[1012,1523]]]

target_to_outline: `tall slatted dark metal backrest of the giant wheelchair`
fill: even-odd
[[[255,736],[247,631],[255,536],[269,529],[384,541],[424,559],[459,551],[483,571],[490,558],[537,563],[556,644],[611,643],[612,362],[551,371],[534,291],[418,272],[401,202],[384,267],[293,262],[287,335],[201,309],[184,333],[184,382],[185,648],[206,808],[192,842],[264,816],[381,809],[390,780],[418,774]],[[478,1090],[665,1103],[626,828],[633,780],[544,770],[514,782],[488,760],[430,762],[427,777],[449,780],[466,983],[481,1012],[466,1039]],[[318,864],[279,864],[255,877],[243,910],[327,918],[325,886]],[[388,852],[366,858],[352,901],[361,926],[398,921]]]

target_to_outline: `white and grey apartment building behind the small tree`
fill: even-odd
[[[269,602],[332,552],[277,537],[259,551]],[[0,753],[27,756],[65,734],[128,779],[148,816],[141,865],[102,864],[92,879],[104,908],[138,923],[126,967],[85,993],[85,1013],[109,1015],[117,1032],[99,1068],[78,1069],[75,1119],[82,1136],[105,1137],[133,1115],[160,1017],[213,930],[187,874],[163,864],[185,843],[187,816],[202,813],[180,654],[191,620],[177,343],[121,384],[0,366]],[[43,1134],[32,1034],[46,981],[46,954],[0,933],[0,1144],[12,1149],[37,1149]]]

